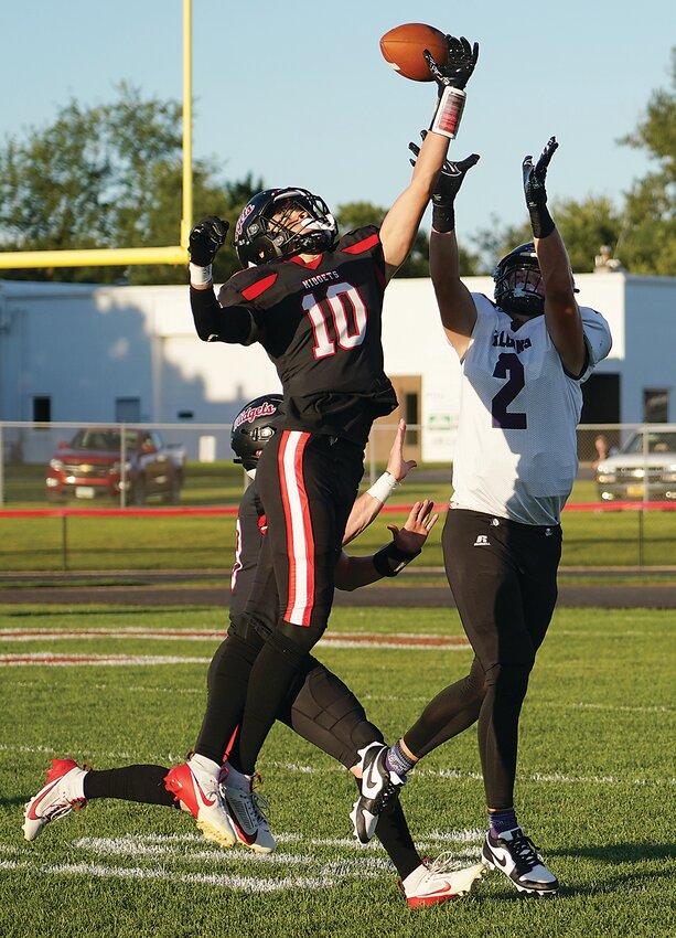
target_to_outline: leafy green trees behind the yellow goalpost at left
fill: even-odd
[[[119,86],[112,104],[63,107],[47,127],[0,149],[0,243],[6,251],[152,247],[179,243],[181,218],[181,108],[142,100]],[[222,183],[214,167],[193,168],[195,216],[237,217],[261,188],[251,178]],[[186,258],[187,259],[187,258]],[[215,270],[238,268],[232,247]],[[3,271],[21,279],[84,283],[185,283],[181,266],[81,267]]]

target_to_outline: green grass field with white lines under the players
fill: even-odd
[[[186,632],[219,630],[224,615],[201,607],[2,606],[0,619],[2,661],[92,659],[4,668],[3,938],[674,934],[673,611],[559,609],[555,616],[523,713],[517,801],[561,881],[558,897],[519,898],[490,873],[470,896],[418,912],[399,896],[382,849],[353,841],[351,777],[286,727],[273,729],[259,764],[279,841],[269,857],[218,850],[182,812],[121,801],[93,801],[26,843],[22,806],[42,786],[52,756],[96,768],[182,760],[218,643]],[[343,638],[461,635],[454,611],[444,609],[337,609],[332,621],[332,635]],[[149,632],[160,628],[179,635]],[[106,633],[77,633],[84,629]],[[324,643],[318,653],[388,739],[470,661],[465,649]],[[101,655],[139,658],[114,665]],[[474,861],[485,819],[473,731],[420,764],[403,803],[423,855],[450,850],[463,864]]]

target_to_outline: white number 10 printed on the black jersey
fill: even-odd
[[[305,294],[303,309],[310,317],[314,332],[315,359],[335,355],[336,342],[341,349],[354,349],[361,345],[366,334],[366,307],[358,290],[351,284],[331,284],[326,290],[324,303],[331,310],[335,341],[329,334],[329,322],[324,303],[318,301],[314,294]]]

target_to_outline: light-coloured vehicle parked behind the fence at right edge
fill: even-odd
[[[636,430],[597,466],[603,501],[676,499],[676,431],[656,426]]]

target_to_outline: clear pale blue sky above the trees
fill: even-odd
[[[182,96],[181,0],[37,0],[3,13],[0,138],[21,139],[76,98]],[[409,175],[407,145],[429,122],[433,85],[401,78],[378,41],[405,22],[478,40],[481,54],[451,153],[481,162],[458,203],[459,234],[525,221],[521,161],[560,148],[552,196],[619,201],[650,163],[621,147],[651,93],[669,86],[674,0],[193,0],[193,147],[226,179],[303,185],[332,206],[388,206]],[[233,221],[233,220],[230,220]],[[429,221],[429,220],[427,220]]]

